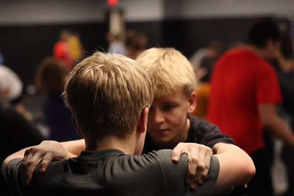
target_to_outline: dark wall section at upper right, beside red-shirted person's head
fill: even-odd
[[[226,45],[231,42],[247,41],[250,26],[260,18],[202,19],[183,21],[183,52],[191,56],[195,49],[202,48],[209,41],[221,40]]]

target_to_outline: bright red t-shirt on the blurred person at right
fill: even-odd
[[[276,73],[247,49],[231,49],[214,66],[207,119],[251,153],[265,146],[258,104],[282,102]]]

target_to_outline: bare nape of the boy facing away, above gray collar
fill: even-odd
[[[128,137],[122,139],[115,136],[107,137],[102,141],[87,140],[85,138],[86,148],[88,151],[100,151],[105,149],[119,149],[125,154],[134,154],[135,143],[133,137]]]

